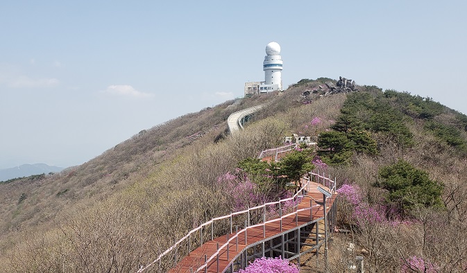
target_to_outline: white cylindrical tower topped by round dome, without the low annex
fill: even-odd
[[[270,42],[266,46],[266,57],[263,62],[264,83],[266,85],[278,85],[282,90],[282,58],[280,58],[280,45]]]

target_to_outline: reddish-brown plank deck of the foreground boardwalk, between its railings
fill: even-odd
[[[209,259],[214,254],[216,254],[218,247],[225,245],[230,238],[230,243],[228,246],[221,249],[218,256],[213,258],[212,261],[207,262],[206,267],[199,271],[223,272],[230,266],[232,261],[249,246],[262,243],[266,240],[270,240],[271,238],[280,236],[280,234],[293,231],[298,227],[305,227],[308,224],[322,219],[324,217],[324,208],[322,205],[323,193],[320,193],[317,190],[318,186],[329,190],[329,188],[321,184],[309,182],[307,187],[308,191],[305,192],[305,195],[301,198],[301,202],[298,204],[296,209],[297,212],[289,213],[287,216],[283,215],[282,219],[275,218],[275,220],[267,220],[266,224],[256,224],[255,226],[246,229],[246,231],[242,229],[242,231],[239,231],[237,238],[234,240],[232,240],[232,238],[236,235],[235,232],[214,238],[214,240],[209,240],[201,245],[201,247],[198,247],[190,252],[189,256],[182,258],[176,267],[173,267],[171,270],[169,270],[169,272],[196,272],[198,268],[205,265],[205,258]],[[332,197],[326,200],[326,211],[328,211],[328,213],[332,207],[332,204],[334,203],[336,195],[337,194],[334,193]],[[321,204],[317,204],[316,202]]]

